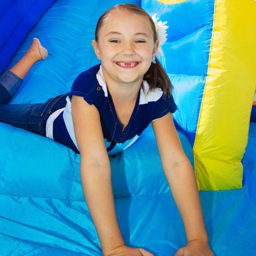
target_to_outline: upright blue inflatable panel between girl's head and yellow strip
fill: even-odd
[[[142,7],[150,15],[157,13],[159,20],[168,21],[165,54],[160,62],[174,86],[178,105],[174,119],[192,146],[207,78],[214,3],[214,0],[187,0],[168,5],[156,0],[142,1]]]

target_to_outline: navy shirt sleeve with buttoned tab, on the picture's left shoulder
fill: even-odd
[[[100,112],[102,106],[102,91],[102,86],[99,84],[93,85],[90,80],[88,81],[83,72],[77,76],[73,82],[71,92],[68,96],[70,101],[72,95],[81,96],[88,104],[95,105]]]

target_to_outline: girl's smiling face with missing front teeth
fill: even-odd
[[[157,49],[147,18],[128,11],[111,12],[92,42],[107,84],[141,83]]]

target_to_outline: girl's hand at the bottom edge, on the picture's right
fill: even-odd
[[[192,240],[186,246],[177,250],[174,256],[214,256],[209,245],[205,241]]]

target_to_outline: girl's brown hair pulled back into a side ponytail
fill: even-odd
[[[95,40],[98,41],[99,38],[99,30],[103,25],[104,19],[113,11],[117,10],[125,10],[128,12],[132,12],[137,15],[141,15],[148,19],[151,29],[153,31],[153,38],[154,42],[157,40],[157,32],[156,27],[154,24],[154,21],[150,17],[150,15],[145,12],[140,6],[134,5],[134,4],[118,4],[116,6],[111,7],[108,9],[108,11],[104,12],[101,17],[98,20],[96,30],[95,30]],[[165,70],[163,69],[162,65],[156,58],[156,64],[151,63],[151,66],[149,67],[148,71],[145,73],[143,79],[146,80],[149,84],[149,90],[152,90],[153,88],[161,88],[163,90],[164,95],[169,95],[171,99],[173,100],[172,96],[172,83],[169,79],[169,76],[166,74]]]

